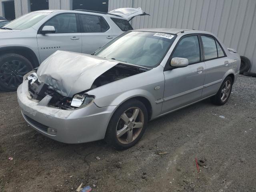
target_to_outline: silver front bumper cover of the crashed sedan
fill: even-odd
[[[43,106],[28,93],[28,81],[17,90],[18,102],[26,122],[35,130],[64,143],[83,143],[103,139],[116,106],[98,107],[94,103],[77,110],[61,110]],[[53,128],[56,134],[49,134]]]

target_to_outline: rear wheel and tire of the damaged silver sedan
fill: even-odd
[[[211,98],[211,101],[216,105],[224,105],[230,97],[232,86],[232,78],[230,76],[226,77],[225,80],[222,82],[217,94]]]

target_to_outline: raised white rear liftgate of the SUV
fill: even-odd
[[[139,8],[119,8],[114,9],[108,13],[119,15],[123,18],[126,18],[128,21],[132,20],[134,17],[138,15],[150,15],[142,11],[142,9]]]

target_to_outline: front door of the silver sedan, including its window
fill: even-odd
[[[183,36],[177,43],[164,69],[164,104],[162,113],[181,108],[202,99],[205,64],[202,48],[196,34]],[[187,58],[189,65],[174,68],[170,61],[174,57]]]

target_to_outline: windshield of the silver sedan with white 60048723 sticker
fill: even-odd
[[[147,68],[160,64],[176,35],[156,32],[126,32],[95,52],[96,56]]]

